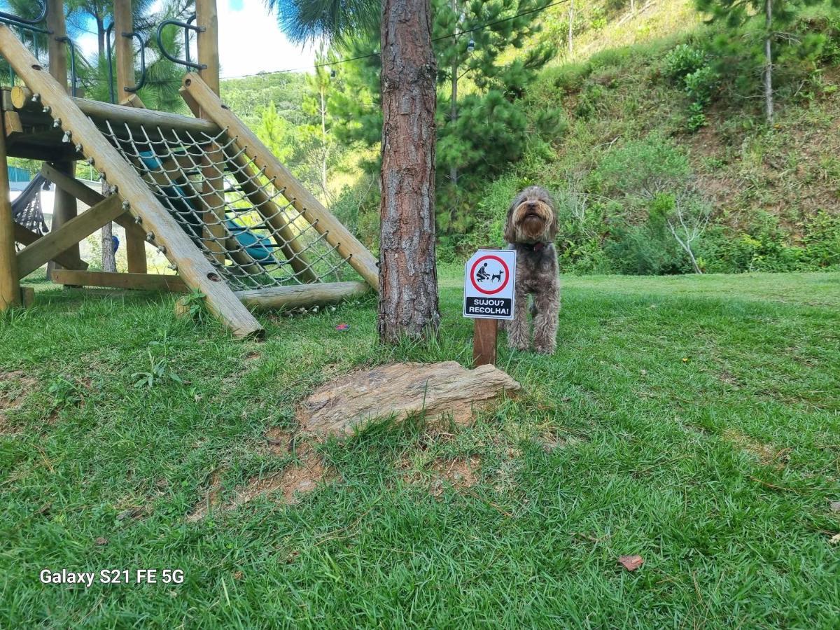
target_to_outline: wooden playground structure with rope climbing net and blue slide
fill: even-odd
[[[201,291],[239,337],[262,333],[254,310],[378,289],[376,260],[365,246],[220,100],[216,0],[197,0],[188,22],[160,27],[195,34],[197,61],[188,48],[187,59],[176,60],[191,70],[181,96],[195,118],[146,109],[136,95],[134,41],[141,50],[144,44],[133,30],[131,0],[113,0],[116,102],[71,96],[67,57],[75,50],[63,0],[40,2],[37,22],[0,19],[0,56],[18,78],[0,94],[0,311],[28,302],[20,280],[48,263],[59,285]],[[46,34],[46,68],[13,27]],[[14,223],[8,157],[44,162],[41,173],[56,186],[47,234]],[[79,160],[99,173],[109,194],[76,180]],[[81,214],[79,201],[89,206]],[[109,222],[125,228],[128,273],[91,271],[81,260],[79,242]],[[147,246],[165,255],[176,275],[148,273]]]

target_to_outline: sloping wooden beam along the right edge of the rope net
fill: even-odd
[[[323,207],[312,193],[295,176],[281,165],[280,161],[271,154],[270,150],[260,142],[260,139],[237,118],[230,109],[223,105],[218,96],[207,87],[197,74],[190,73],[184,77],[184,87],[202,108],[208,118],[227,128],[228,134],[236,139],[236,144],[255,161],[261,169],[265,169],[266,176],[274,181],[276,186],[286,189],[286,198],[303,217],[321,234],[326,234],[327,242],[338,249],[339,255],[349,258],[349,265],[358,271],[365,281],[376,290],[379,289],[379,269],[376,259],[361,244],[342,223]]]

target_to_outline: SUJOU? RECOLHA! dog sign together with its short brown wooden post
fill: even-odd
[[[500,319],[513,319],[517,253],[479,249],[464,267],[464,317],[473,318],[473,364],[496,365]]]

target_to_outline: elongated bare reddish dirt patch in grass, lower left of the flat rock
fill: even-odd
[[[234,497],[227,503],[221,501],[221,485],[218,476],[214,474],[210,481],[205,500],[193,508],[186,520],[197,522],[210,512],[229,512],[254,501],[259,496],[269,496],[282,505],[293,506],[301,501],[303,495],[328,483],[335,478],[323,461],[314,456],[302,459],[299,464],[286,466],[280,472],[267,477],[253,477],[245,486],[236,491]]]

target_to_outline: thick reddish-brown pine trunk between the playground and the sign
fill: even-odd
[[[434,334],[440,323],[434,235],[437,104],[429,0],[383,0],[379,336]]]

